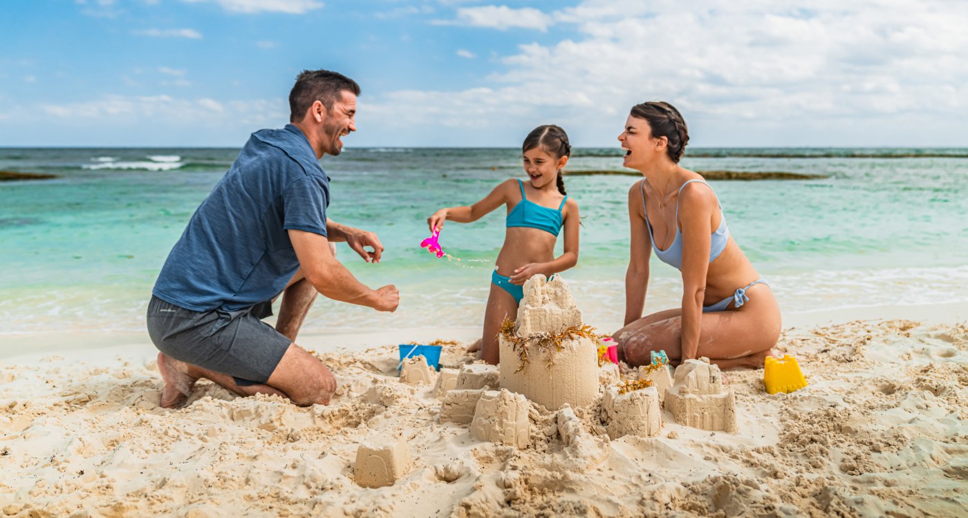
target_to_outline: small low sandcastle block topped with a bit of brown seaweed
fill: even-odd
[[[605,390],[602,400],[605,430],[612,440],[624,435],[655,437],[662,427],[659,392],[655,387],[624,391],[619,387]]]

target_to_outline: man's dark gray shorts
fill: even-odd
[[[238,311],[192,311],[152,296],[148,334],[167,356],[221,372],[239,386],[264,384],[291,343],[260,319],[272,315],[272,302]]]

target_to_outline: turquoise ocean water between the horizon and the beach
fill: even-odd
[[[0,170],[50,173],[0,183],[0,335],[140,331],[151,287],[232,149],[0,149]],[[339,258],[400,309],[317,302],[307,329],[476,326],[502,243],[503,213],[449,222],[436,259],[426,217],[522,177],[514,149],[348,149],[327,157],[329,216],[373,230],[379,265]],[[968,150],[690,149],[697,170],[787,171],[822,180],[712,182],[730,231],[786,312],[968,301]],[[577,150],[569,169],[621,169],[619,149]],[[564,273],[586,321],[620,323],[630,176],[566,178],[584,216],[579,266]],[[245,236],[238,239],[244,240]],[[559,245],[560,247],[560,245]],[[655,259],[653,258],[653,261]],[[647,310],[677,305],[679,273],[654,263]]]

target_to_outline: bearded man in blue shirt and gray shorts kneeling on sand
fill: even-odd
[[[326,217],[329,177],[318,160],[339,155],[342,137],[356,130],[359,93],[343,74],[300,73],[289,93],[291,124],[253,133],[189,220],[148,304],[163,407],[184,405],[199,378],[240,395],[328,404],[336,379],[294,342],[317,292],[397,308],[395,286],[368,288],[330,248],[345,241],[367,262],[379,262],[383,251],[375,234]],[[273,329],[259,319],[272,314],[280,293]]]

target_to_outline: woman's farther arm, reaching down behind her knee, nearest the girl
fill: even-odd
[[[641,182],[628,189],[628,221],[631,227],[629,239],[628,270],[625,272],[625,326],[642,318],[646,307],[646,290],[649,288],[649,259],[652,241],[646,227]]]

